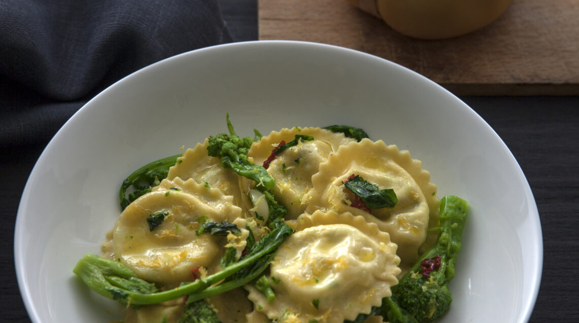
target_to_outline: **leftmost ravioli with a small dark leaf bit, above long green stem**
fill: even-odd
[[[158,212],[165,216],[151,229],[147,219]],[[112,232],[113,252],[138,277],[175,287],[195,278],[192,269],[218,269],[224,241],[210,234],[197,236],[200,222],[221,222],[240,214],[241,209],[228,201],[216,207],[189,193],[157,189],[120,214]]]

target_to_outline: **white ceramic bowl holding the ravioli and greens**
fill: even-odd
[[[496,133],[458,98],[400,65],[316,43],[233,43],[184,53],[103,91],[58,131],[18,210],[14,256],[34,322],[109,322],[120,307],[72,268],[100,252],[120,181],[149,161],[226,131],[350,124],[423,161],[438,195],[471,205],[453,304],[441,322],[525,322],[543,240],[533,194]],[[112,313],[111,313],[112,312]]]

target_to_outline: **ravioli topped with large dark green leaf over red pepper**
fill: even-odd
[[[350,175],[360,175],[380,189],[394,189],[398,203],[394,208],[369,212],[352,207],[354,194],[343,182]],[[438,203],[436,186],[430,173],[422,169],[419,160],[395,145],[364,139],[340,147],[328,161],[320,164],[320,171],[312,177],[313,189],[307,193],[308,212],[334,210],[361,215],[388,232],[398,245],[401,265],[407,270],[419,257],[419,249],[426,241],[429,227],[437,225]]]

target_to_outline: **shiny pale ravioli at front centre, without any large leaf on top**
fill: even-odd
[[[301,215],[292,225],[296,232],[277,249],[267,276],[275,300],[246,287],[270,320],[343,323],[391,296],[400,258],[377,225],[333,211]]]

